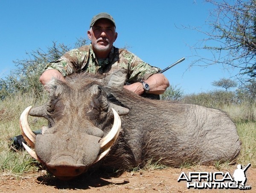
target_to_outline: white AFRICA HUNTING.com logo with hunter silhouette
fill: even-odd
[[[241,164],[237,165],[237,169],[233,173],[233,177],[229,172],[182,172],[178,178],[178,182],[186,181],[187,188],[195,189],[240,189],[250,190],[251,186],[246,183],[246,170],[250,167],[248,164],[244,169]]]

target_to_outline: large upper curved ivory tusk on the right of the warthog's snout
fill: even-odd
[[[108,133],[108,135],[106,135],[104,138],[102,138],[99,143],[100,143],[100,148],[101,150],[104,152],[105,150],[108,150],[116,141],[120,129],[121,129],[121,119],[118,115],[118,113],[111,108],[114,114],[114,123],[113,123],[113,127],[110,130],[110,132]]]

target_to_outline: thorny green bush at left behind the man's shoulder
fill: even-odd
[[[75,47],[86,43],[85,39],[78,39]],[[17,68],[11,71],[10,75],[0,79],[0,99],[13,95],[14,93],[32,92],[36,97],[40,97],[43,92],[43,86],[39,82],[44,67],[50,61],[58,60],[65,52],[69,51],[70,46],[63,43],[57,45],[53,42],[47,51],[37,49],[26,53],[28,59],[14,61]]]

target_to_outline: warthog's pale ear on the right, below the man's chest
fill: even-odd
[[[107,88],[121,90],[125,84],[126,76],[127,71],[125,69],[118,69],[108,74],[104,79],[104,83]]]

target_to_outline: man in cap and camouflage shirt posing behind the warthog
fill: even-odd
[[[75,72],[108,73],[124,68],[128,71],[129,83],[124,88],[138,95],[160,95],[169,86],[167,78],[163,74],[157,74],[159,68],[150,66],[125,49],[113,46],[117,32],[111,15],[100,13],[94,16],[87,35],[91,40],[90,45],[73,49],[58,61],[47,64],[40,77],[43,85],[53,77],[64,81],[64,77]]]

